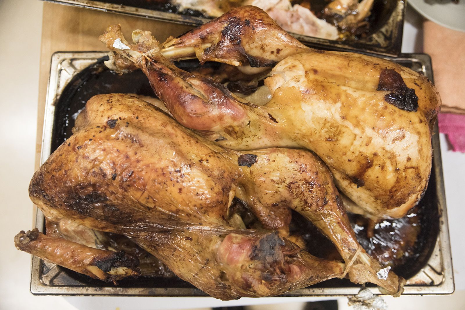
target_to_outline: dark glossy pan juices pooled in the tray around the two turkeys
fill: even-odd
[[[105,67],[103,62],[107,59],[107,57],[100,58],[96,64],[87,67],[73,77],[56,101],[52,152],[72,135],[71,129],[74,126],[75,117],[85,106],[87,100],[94,95],[135,93],[155,97],[142,71],[137,70],[119,75]],[[192,71],[199,66],[199,62],[197,60],[188,60],[176,63],[176,65],[183,70]],[[409,66],[409,64],[402,65]],[[206,66],[217,69],[219,64],[207,63]],[[351,215],[352,226],[357,234],[357,239],[365,250],[379,258],[385,265],[391,265],[393,270],[404,278],[412,277],[425,266],[438,236],[440,214],[438,214],[436,207],[438,201],[434,191],[436,187],[435,180],[433,169],[425,196],[419,202],[419,205],[414,207],[402,219],[385,220],[371,230],[369,229],[370,224],[365,219]],[[299,213],[292,213],[290,229],[292,233],[298,233],[302,236],[306,243],[306,250],[311,254],[321,258],[341,259],[334,245]],[[372,236],[367,236],[368,231],[372,231]],[[115,237],[113,236],[111,239],[115,239]],[[43,268],[46,268],[45,265],[43,266]],[[66,270],[64,275],[60,276],[60,281],[69,285],[81,283],[92,287],[113,286],[113,284],[104,283],[70,270]],[[332,279],[316,284],[313,287],[348,287],[353,285],[347,279]],[[126,278],[120,281],[119,286],[188,287],[193,288],[194,295],[206,296],[205,293],[195,289],[191,284],[176,276],[167,277],[166,272],[162,269],[158,274],[154,272],[151,277]]]

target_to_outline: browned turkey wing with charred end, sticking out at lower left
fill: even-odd
[[[48,262],[83,273],[91,278],[116,284],[117,280],[140,275],[139,260],[124,252],[112,252],[80,245],[63,238],[39,233],[37,228],[14,237],[14,245]]]

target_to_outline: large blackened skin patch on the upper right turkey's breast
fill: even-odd
[[[384,97],[384,100],[401,110],[409,112],[418,110],[418,97],[415,90],[408,88],[400,74],[393,69],[386,68],[381,71],[376,90],[392,91]]]

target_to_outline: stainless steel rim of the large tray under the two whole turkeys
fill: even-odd
[[[44,116],[44,131],[42,137],[42,149],[40,163],[42,164],[51,151],[52,132],[55,113],[55,100],[60,96],[64,86],[82,68],[93,64],[98,58],[105,56],[106,52],[56,52],[52,56],[50,68],[50,78],[46,95],[46,109]],[[430,80],[433,79],[431,59],[425,54],[404,54],[397,58],[387,58],[398,62],[412,62],[418,65],[421,71]],[[74,63],[82,60],[80,66],[76,68]],[[73,63],[74,61],[74,63]],[[405,295],[427,295],[427,294],[451,294],[454,291],[454,280],[452,272],[452,255],[449,241],[449,230],[447,224],[447,211],[445,204],[444,179],[442,174],[442,162],[438,139],[438,129],[435,126],[432,137],[433,146],[433,168],[436,177],[436,192],[438,197],[438,211],[440,214],[439,236],[426,266],[413,276],[405,286]],[[44,217],[37,209],[35,217],[35,227],[40,231],[44,228]],[[48,264],[48,265],[47,265]],[[43,266],[50,269],[45,275],[41,274]],[[62,296],[207,296],[204,292],[195,288],[135,288],[135,287],[90,287],[90,286],[69,286],[50,285],[53,277],[61,272],[61,267],[44,262],[40,258],[33,257],[31,272],[31,292],[35,295],[62,295]],[[438,270],[440,269],[440,270]],[[430,285],[425,285],[424,279],[430,281]],[[47,283],[46,283],[47,282]],[[419,283],[422,283],[419,285]],[[379,294],[376,287],[369,288],[374,294]],[[282,296],[349,296],[357,294],[359,286],[351,287],[328,287],[295,290]]]

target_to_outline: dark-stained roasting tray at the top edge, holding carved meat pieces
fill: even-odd
[[[46,1],[192,26],[199,26],[210,20],[209,16],[197,10],[179,10],[179,6],[171,4],[168,0]],[[305,1],[291,1],[292,4],[305,6],[303,2]],[[323,8],[319,2],[326,4],[323,0],[312,1],[312,6],[315,6],[316,3],[318,9],[319,6]],[[402,45],[405,8],[405,1],[402,0],[374,0],[371,15],[365,19],[367,28],[362,34],[350,37],[340,36],[338,40],[321,39],[301,34],[293,34],[293,36],[300,42],[315,48],[397,56]]]

